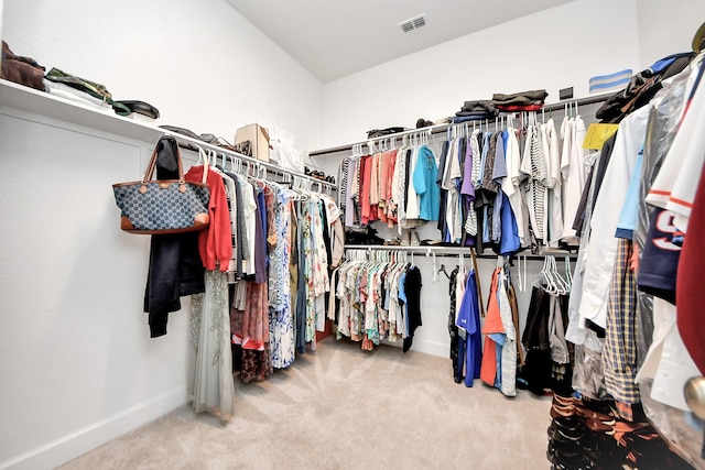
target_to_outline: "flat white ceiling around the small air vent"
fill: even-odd
[[[227,1],[327,83],[573,0]],[[409,33],[398,26],[421,13],[425,26]]]

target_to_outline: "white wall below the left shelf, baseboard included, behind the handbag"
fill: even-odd
[[[51,468],[186,402],[188,308],[149,338],[149,237],[118,229],[150,143],[1,111],[0,468]]]

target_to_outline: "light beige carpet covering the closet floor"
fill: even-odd
[[[327,338],[226,425],[188,406],[62,469],[547,469],[551,400],[456,384],[449,359]]]

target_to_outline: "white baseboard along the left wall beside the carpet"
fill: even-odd
[[[0,469],[47,469],[67,462],[122,436],[186,403],[186,389],[178,387],[115,416],[67,434],[28,452],[0,462]]]

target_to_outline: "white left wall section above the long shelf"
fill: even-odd
[[[225,0],[7,0],[12,51],[155,106],[160,123],[214,133],[260,118],[311,150],[323,86]]]

